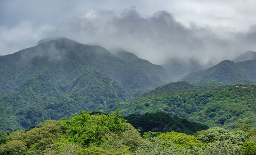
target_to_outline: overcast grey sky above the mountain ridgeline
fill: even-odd
[[[256,51],[255,0],[0,0],[0,55],[67,37],[112,46],[154,64],[217,63]]]

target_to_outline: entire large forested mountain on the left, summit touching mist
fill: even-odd
[[[167,83],[161,66],[133,57],[136,63],[67,38],[41,40],[32,48],[0,56],[1,132],[93,111]]]

